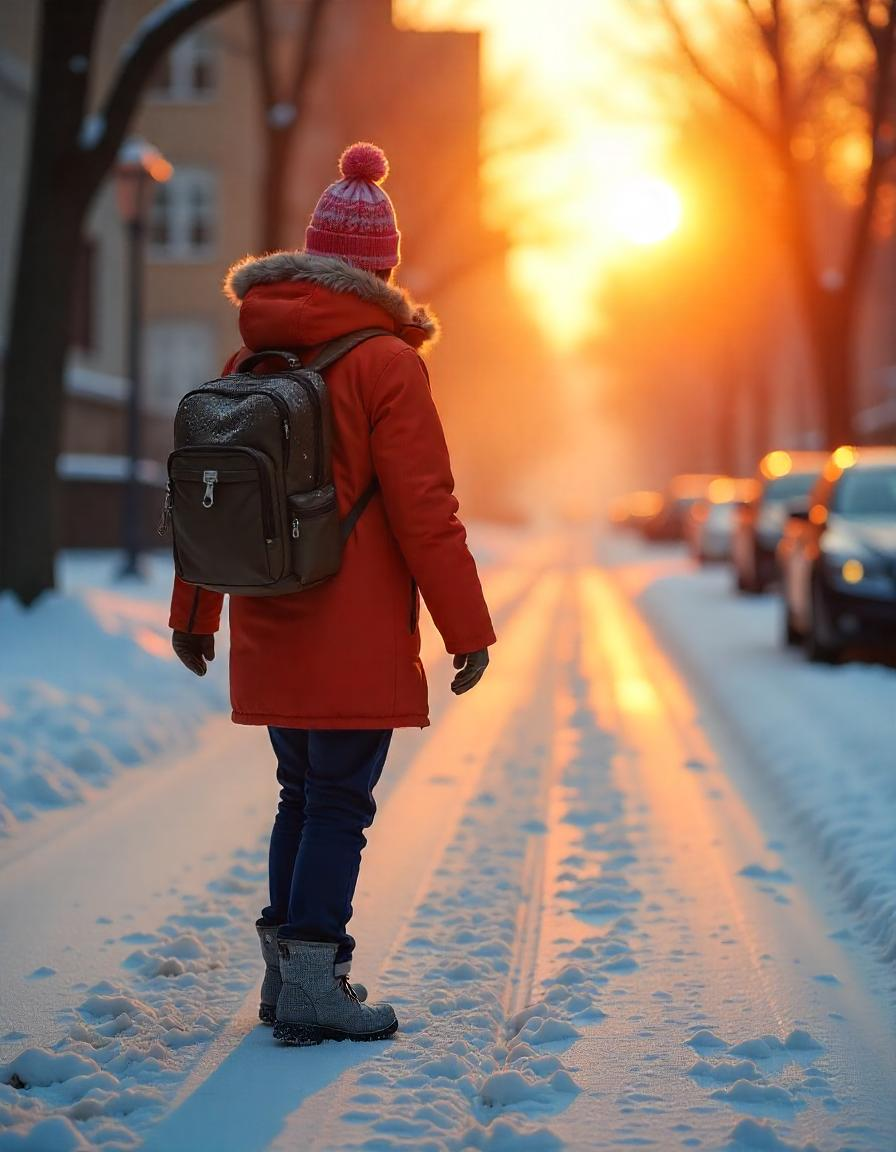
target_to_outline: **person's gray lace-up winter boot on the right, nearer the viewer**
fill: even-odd
[[[274,1039],[283,1044],[321,1040],[385,1040],[397,1029],[392,1005],[363,1003],[348,975],[336,975],[335,943],[280,940],[282,988]]]

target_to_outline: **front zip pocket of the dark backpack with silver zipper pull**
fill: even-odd
[[[283,574],[282,513],[272,462],[252,448],[180,448],[168,457],[177,575],[251,589]]]

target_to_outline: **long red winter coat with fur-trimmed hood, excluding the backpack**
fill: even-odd
[[[306,592],[230,597],[233,719],[293,728],[424,727],[417,589],[448,652],[473,652],[495,639],[417,353],[435,325],[398,289],[329,257],[246,259],[231,268],[226,290],[240,304],[240,333],[253,351],[314,349],[356,328],[395,333],[358,346],[327,371],[341,515],[374,475],[380,484],[340,571]],[[175,577],[169,624],[217,631],[222,600]]]

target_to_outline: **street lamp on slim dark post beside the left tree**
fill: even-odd
[[[122,499],[122,576],[139,575],[141,552],[141,414],[143,362],[143,271],[146,217],[157,183],[170,179],[170,164],[145,141],[124,142],[115,164],[119,214],[128,237],[128,472]]]

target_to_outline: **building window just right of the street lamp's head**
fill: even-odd
[[[213,260],[218,182],[204,168],[177,168],[155,189],[150,217],[150,259],[159,263]]]

